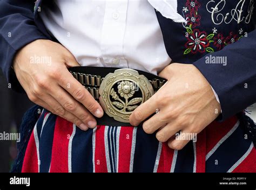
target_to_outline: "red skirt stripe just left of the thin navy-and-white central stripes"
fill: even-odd
[[[95,134],[95,172],[107,172],[105,142],[105,125],[98,125]]]

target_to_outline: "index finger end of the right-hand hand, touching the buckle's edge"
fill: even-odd
[[[129,121],[133,126],[139,125],[146,118],[150,117],[153,113],[158,111],[158,106],[156,104],[156,94],[154,94],[150,99],[145,101],[139,107],[137,107],[131,114]]]

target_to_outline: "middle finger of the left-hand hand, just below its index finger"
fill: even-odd
[[[54,89],[54,90],[53,90]],[[82,104],[78,103],[77,100],[73,99],[68,92],[66,92],[62,87],[54,87],[51,91],[52,96],[58,101],[64,109],[77,118],[79,118],[85,125],[90,128],[94,128],[97,125],[95,118],[92,114],[86,110]]]

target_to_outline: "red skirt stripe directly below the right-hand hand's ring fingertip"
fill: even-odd
[[[166,172],[170,173],[172,166],[174,150],[171,149],[167,142],[162,143],[162,150],[160,154],[159,164],[157,168],[157,172]]]

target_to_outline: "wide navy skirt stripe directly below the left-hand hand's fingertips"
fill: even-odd
[[[90,128],[87,131],[82,131],[80,128],[76,127],[71,152],[72,172],[93,172],[92,132],[93,130]]]

